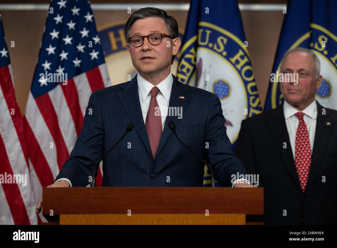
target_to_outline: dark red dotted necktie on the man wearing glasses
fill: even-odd
[[[162,133],[161,116],[160,114],[158,115],[158,113],[160,113],[157,102],[158,92],[158,87],[151,89],[150,107],[145,120],[146,132],[148,134],[153,159],[156,155]]]

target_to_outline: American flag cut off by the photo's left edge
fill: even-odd
[[[0,55],[0,224],[37,224],[23,119],[15,100],[1,14]]]

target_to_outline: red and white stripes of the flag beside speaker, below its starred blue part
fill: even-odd
[[[42,187],[54,183],[69,158],[81,132],[91,93],[110,85],[106,65],[101,64],[36,99],[29,93],[24,124],[35,200],[41,196]],[[97,186],[101,185],[102,164],[97,175]],[[41,215],[40,218],[44,220]]]

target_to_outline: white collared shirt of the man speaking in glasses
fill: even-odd
[[[149,81],[146,81],[139,74],[137,74],[137,82],[138,82],[139,100],[141,103],[142,114],[145,123],[146,115],[150,107],[151,89],[155,86],[151,84]],[[170,74],[163,81],[161,81],[159,84],[156,85],[160,90],[157,95],[157,102],[160,109],[162,130],[164,130],[166,120],[166,115],[162,115],[162,110],[168,108],[172,84],[173,84],[173,76],[172,73],[170,72]]]

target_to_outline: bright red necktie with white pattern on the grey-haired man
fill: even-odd
[[[300,122],[296,131],[295,141],[295,164],[297,174],[300,179],[301,188],[304,192],[305,185],[308,181],[309,169],[311,164],[311,149],[307,126],[303,120],[303,113],[297,112],[296,117]]]

